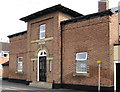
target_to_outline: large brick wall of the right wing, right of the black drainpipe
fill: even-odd
[[[118,26],[114,26],[117,25],[115,16],[117,15],[111,16],[111,22],[109,16],[104,16],[63,26],[63,82],[65,84],[97,86],[97,60],[101,60],[101,86],[113,86],[113,43],[118,41]],[[73,76],[76,72],[77,52],[88,53],[89,77]]]

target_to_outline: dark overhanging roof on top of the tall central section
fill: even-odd
[[[55,12],[55,11],[61,11],[61,12],[65,13],[65,14],[68,14],[72,17],[83,16],[82,14],[80,14],[76,11],[73,11],[73,10],[67,8],[67,7],[64,7],[61,4],[58,4],[58,5],[52,6],[50,8],[46,8],[44,10],[33,13],[31,15],[28,15],[26,17],[20,18],[20,20],[28,22],[32,19],[38,18],[40,16],[43,16],[43,15],[46,15],[46,14],[49,14],[49,13],[52,13],[52,12]]]

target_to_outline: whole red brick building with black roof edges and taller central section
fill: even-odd
[[[107,0],[99,2],[99,12],[86,16],[56,5],[20,20],[27,22],[28,29],[8,36],[9,80],[96,90],[97,60],[101,60],[101,88],[116,89],[118,9],[108,9]]]

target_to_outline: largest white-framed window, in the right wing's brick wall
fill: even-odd
[[[76,54],[76,73],[87,73],[87,52]]]

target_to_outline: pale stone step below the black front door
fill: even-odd
[[[52,83],[47,83],[47,82],[31,82],[29,86],[52,89]]]

